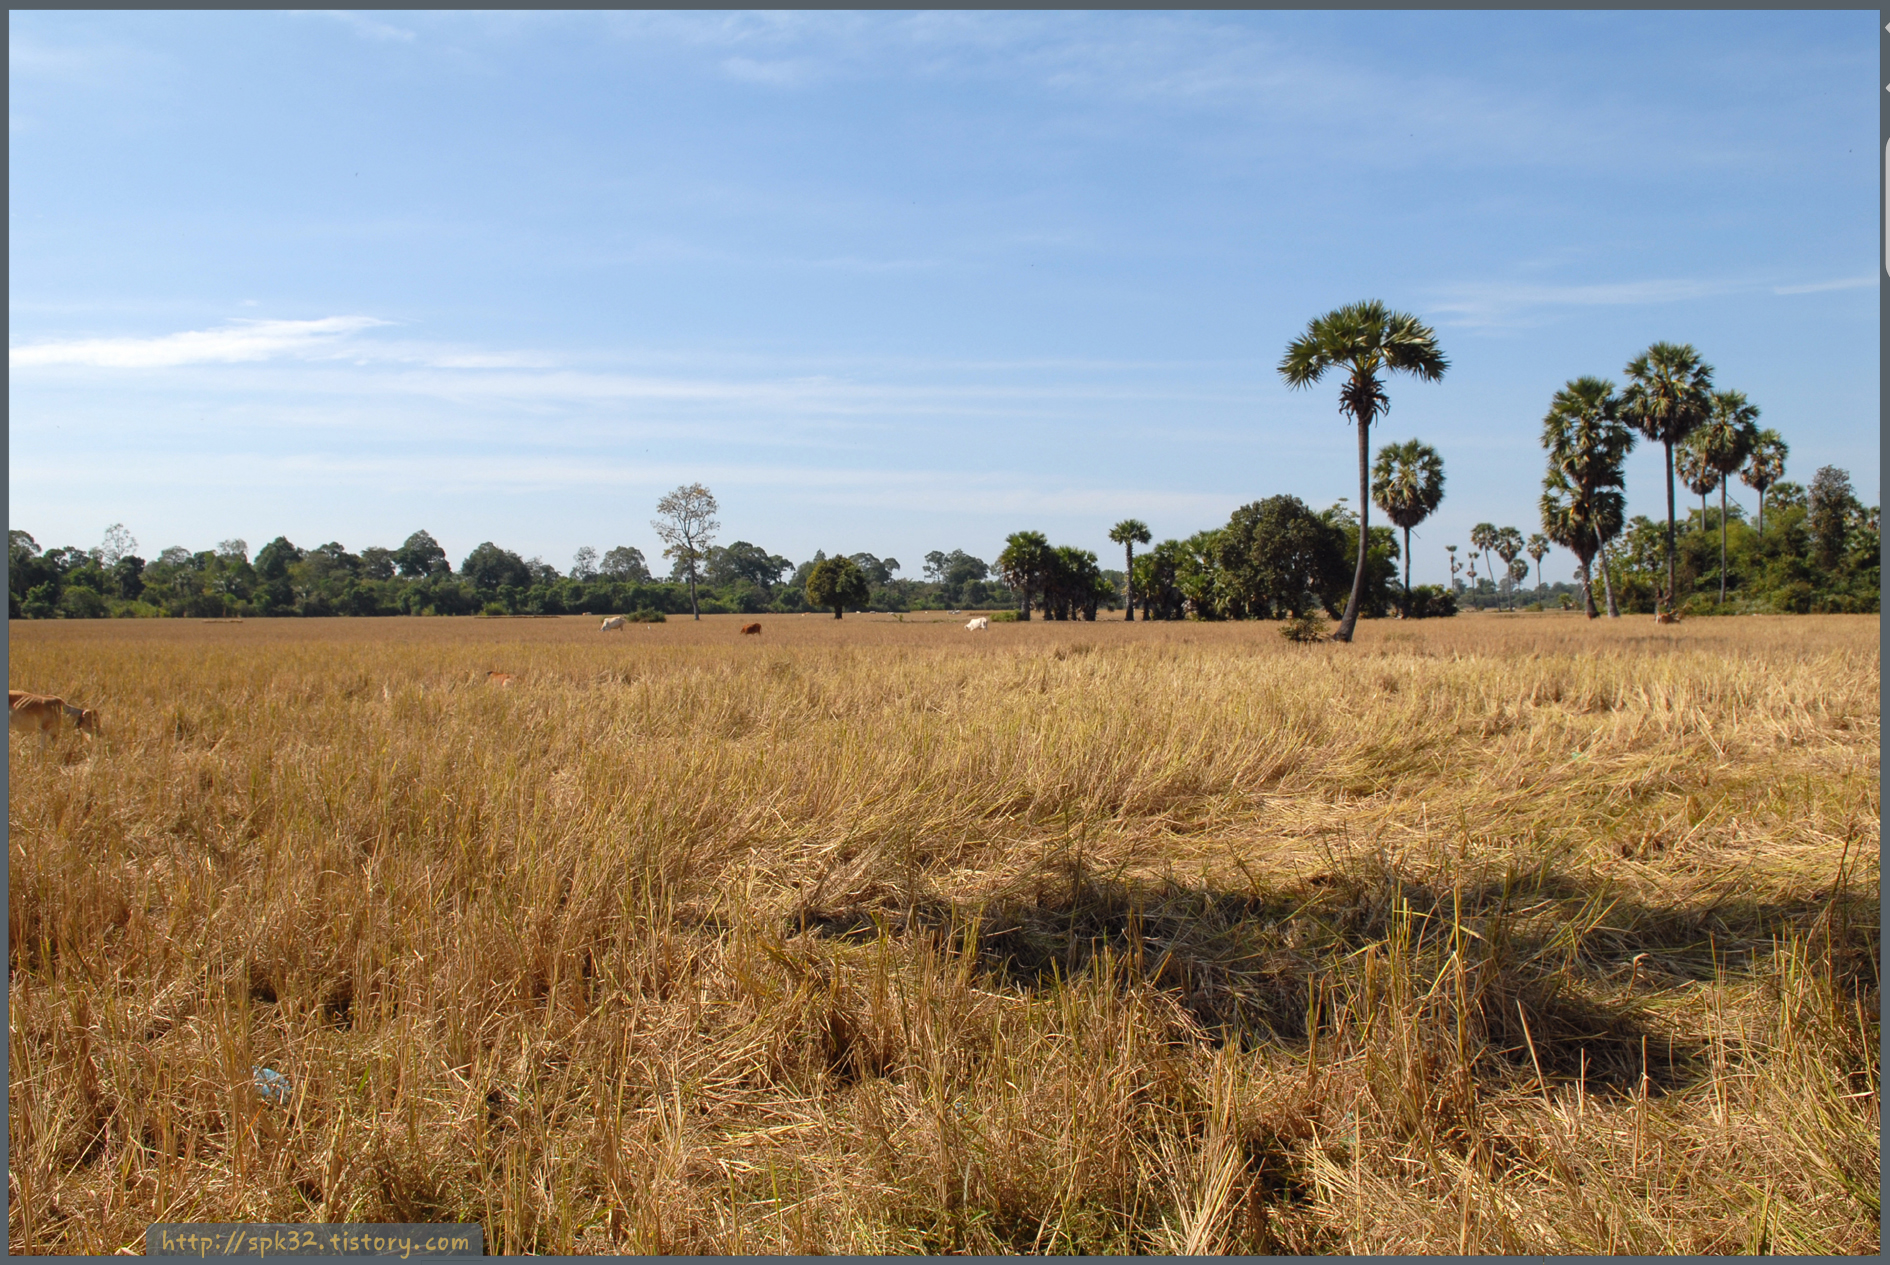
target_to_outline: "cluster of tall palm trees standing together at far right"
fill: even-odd
[[[1622,465],[1637,437],[1665,448],[1667,469],[1667,586],[1656,609],[1675,601],[1675,475],[1699,494],[1720,492],[1720,601],[1726,601],[1726,480],[1739,475],[1760,494],[1763,529],[1765,490],[1784,475],[1788,448],[1775,431],[1758,427],[1760,410],[1744,391],[1714,390],[1712,365],[1684,342],[1656,342],[1627,361],[1627,386],[1606,378],[1574,378],[1550,401],[1542,420],[1548,477],[1542,480],[1542,528],[1576,556],[1582,601],[1599,616],[1591,563],[1601,558],[1608,615],[1620,615],[1608,581],[1608,541],[1625,524]]]

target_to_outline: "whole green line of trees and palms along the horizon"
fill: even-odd
[[[1850,477],[1831,465],[1816,473],[1811,488],[1786,482],[1786,442],[1758,427],[1758,407],[1741,391],[1716,390],[1714,371],[1699,352],[1673,342],[1656,342],[1631,359],[1622,390],[1584,376],[1555,391],[1542,422],[1548,473],[1540,533],[1523,537],[1516,528],[1482,522],[1470,529],[1463,562],[1457,545],[1446,546],[1448,588],[1414,588],[1410,533],[1442,501],[1444,463],[1418,439],[1385,444],[1374,461],[1370,425],[1389,408],[1385,374],[1436,382],[1448,367],[1429,325],[1382,303],[1355,303],[1312,320],[1287,346],[1280,374],[1289,388],[1314,386],[1329,373],[1342,378],[1340,414],[1359,439],[1359,511],[1340,501],[1314,512],[1298,497],[1274,495],[1240,507],[1221,528],[1162,541],[1140,558],[1136,545],[1149,545],[1153,535],[1142,520],[1125,518],[1109,531],[1125,548],[1123,571],[1104,569],[1092,550],[1051,545],[1041,531],[1011,533],[994,565],[964,550],[934,550],[926,554],[924,581],[898,579],[898,560],[866,552],[816,552],[796,567],[748,541],[716,545],[716,499],[705,486],[686,484],[662,497],[652,520],[663,558],[671,560],[662,581],[627,545],[603,556],[584,546],[561,575],[542,558],[520,558],[484,541],[454,571],[427,531],[412,533],[399,548],[369,546],[359,554],[335,541],[302,550],[276,537],[251,562],[248,545],[232,539],[215,550],[172,546],[147,563],[136,556],[136,541],[113,524],[89,550],[42,550],[26,531],[9,531],[8,613],[699,616],[832,609],[841,616],[847,609],[1011,605],[1024,620],[1032,611],[1094,620],[1102,609],[1125,609],[1126,618],[1136,618],[1138,607],[1145,620],[1174,620],[1302,618],[1323,607],[1338,618],[1332,639],[1349,641],[1359,618],[1455,615],[1459,601],[1514,605],[1529,575],[1525,554],[1535,562],[1540,605],[1548,596],[1542,558],[1550,545],[1574,554],[1589,618],[1599,616],[1597,577],[1608,615],[1879,609],[1879,509],[1864,507]],[[1644,514],[1625,518],[1622,471],[1637,439],[1665,450],[1665,528]],[[1756,526],[1726,495],[1735,475],[1760,494]],[[1676,480],[1701,497],[1684,537]],[[1712,492],[1720,494],[1716,512],[1707,501]],[[1374,505],[1391,528],[1370,526]],[[1393,528],[1402,531],[1402,548]],[[1501,573],[1491,556],[1503,560]],[[1457,579],[1463,569],[1469,582]],[[1563,586],[1555,596],[1567,603]]]

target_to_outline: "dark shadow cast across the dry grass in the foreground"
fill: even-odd
[[[1376,862],[1263,891],[1123,881],[1060,862],[975,908],[805,910],[788,934],[970,945],[990,987],[1043,993],[1106,974],[1151,987],[1200,1040],[1306,1046],[1416,1032],[1470,1063],[1591,1089],[1676,1089],[1703,1040],[1659,1017],[1671,991],[1760,974],[1809,945],[1830,983],[1877,1008],[1877,906],[1862,892],[1648,906],[1567,874],[1453,889]]]

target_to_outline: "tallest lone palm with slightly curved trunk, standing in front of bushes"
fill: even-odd
[[[1372,539],[1370,429],[1372,420],[1391,407],[1380,374],[1408,373],[1419,382],[1436,382],[1450,361],[1436,346],[1435,329],[1372,299],[1315,316],[1306,333],[1287,344],[1285,359],[1280,361],[1280,376],[1289,388],[1312,386],[1331,369],[1346,373],[1338,410],[1359,427],[1359,562],[1351,577],[1351,598],[1332,633],[1332,641],[1351,641],[1365,601],[1365,558]]]

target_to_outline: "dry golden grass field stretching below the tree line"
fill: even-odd
[[[15,622],[11,1252],[1877,1252],[1875,616],[741,622]]]

